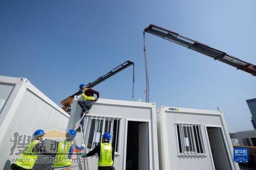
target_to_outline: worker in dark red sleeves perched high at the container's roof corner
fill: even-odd
[[[87,88],[85,84],[80,84],[79,88],[83,92],[82,93],[83,99],[77,101],[78,105],[82,108],[82,112],[80,114],[82,118],[84,114],[89,113],[93,103],[98,100],[98,98],[100,97],[100,94],[96,90]],[[94,98],[94,94],[97,95],[97,98]],[[84,118],[81,121],[82,128],[84,127]]]

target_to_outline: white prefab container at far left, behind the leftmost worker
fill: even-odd
[[[10,169],[11,158],[28,146],[35,130],[65,134],[68,118],[27,79],[0,76],[0,169]]]

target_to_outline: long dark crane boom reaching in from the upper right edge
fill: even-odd
[[[228,55],[221,50],[199,43],[198,41],[180,36],[179,33],[166,30],[153,24],[150,24],[147,28],[145,28],[144,34],[145,32],[151,33],[158,37],[162,37],[166,40],[172,41],[173,43],[187,47],[188,49],[195,50],[198,53],[202,53],[204,55],[214,58],[214,60],[218,60],[220,62],[234,66],[237,70],[242,70],[256,76],[255,65],[242,61],[237,57]]]

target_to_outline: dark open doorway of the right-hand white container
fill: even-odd
[[[231,170],[228,150],[225,145],[221,128],[207,127],[207,133],[215,170]]]

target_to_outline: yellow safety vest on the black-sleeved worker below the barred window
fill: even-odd
[[[112,166],[112,146],[109,143],[100,143],[100,157],[98,166]]]

